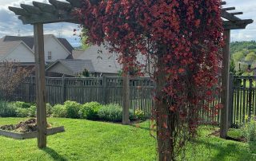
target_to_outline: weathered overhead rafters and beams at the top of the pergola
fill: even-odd
[[[42,2],[33,2],[33,6],[21,5],[21,8],[9,7],[23,24],[36,23],[54,23],[54,22],[71,22],[79,24],[78,18],[75,17],[74,11],[82,7],[82,1],[66,0],[60,2],[57,0],[49,0],[50,4]],[[97,4],[98,0],[90,0],[91,3]],[[222,2],[226,5],[226,2]],[[245,29],[246,26],[253,22],[251,19],[242,20],[235,15],[243,14],[242,12],[229,13],[228,10],[235,10],[235,7],[222,8],[222,18],[224,29]]]

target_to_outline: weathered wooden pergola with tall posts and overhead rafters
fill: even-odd
[[[100,0],[90,0],[97,5]],[[9,10],[18,15],[22,23],[34,26],[34,54],[35,54],[35,73],[36,73],[36,93],[37,93],[37,121],[38,121],[38,147],[46,147],[46,82],[45,82],[45,58],[44,58],[44,40],[43,24],[55,22],[70,22],[79,24],[79,18],[74,15],[74,11],[82,7],[82,0],[66,0],[60,2],[49,0],[50,4],[42,2],[33,2],[33,6],[21,4],[21,8],[9,7]],[[226,2],[222,2],[226,5]],[[229,88],[230,88],[230,30],[245,29],[253,22],[252,19],[240,19],[236,17],[242,12],[230,13],[229,10],[235,10],[234,7],[222,8],[222,18],[224,26],[224,36],[226,45],[223,48],[223,69],[222,69],[222,108],[221,114],[221,137],[226,138],[228,129],[229,111]],[[127,94],[127,93],[126,93]],[[127,116],[127,115],[123,115]]]

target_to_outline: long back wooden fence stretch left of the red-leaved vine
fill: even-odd
[[[122,77],[46,77],[46,102],[62,104],[74,100],[81,104],[97,101],[122,105],[122,81]],[[130,77],[130,108],[150,115],[154,104],[153,90],[154,81],[149,77]],[[7,100],[35,102],[35,77],[27,77]]]

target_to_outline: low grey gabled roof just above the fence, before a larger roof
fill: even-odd
[[[46,68],[46,75],[48,77],[62,77],[62,75],[79,77],[85,70],[94,77],[95,70],[90,60],[61,59]]]

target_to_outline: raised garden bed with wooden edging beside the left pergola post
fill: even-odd
[[[52,125],[47,124],[47,135],[54,135],[64,131],[63,126],[53,128]],[[36,138],[38,135],[36,120],[30,119],[18,124],[3,125],[0,127],[0,135],[14,139]]]

